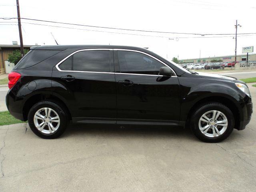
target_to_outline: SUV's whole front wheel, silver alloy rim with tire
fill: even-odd
[[[234,129],[232,111],[218,102],[206,103],[196,108],[191,121],[192,131],[204,142],[220,142]]]

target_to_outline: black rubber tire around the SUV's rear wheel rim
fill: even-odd
[[[42,108],[52,109],[52,113],[53,114],[56,113],[59,117],[58,118],[59,123],[52,122],[52,124],[58,125],[58,128],[52,133],[44,133],[44,132],[47,132],[48,125],[44,126],[44,128],[45,128],[45,131],[43,130],[44,132],[41,132],[40,130],[38,130],[36,128],[36,125],[34,123],[34,115],[36,114],[36,112],[38,110],[40,110]],[[36,134],[37,136],[44,138],[44,139],[54,139],[54,138],[59,137],[66,130],[66,127],[68,124],[68,115],[64,109],[65,108],[62,107],[60,104],[56,104],[55,102],[52,102],[52,101],[41,101],[41,102],[34,104],[28,113],[28,124],[30,126],[30,129],[32,130],[32,132],[34,132],[34,134]],[[42,112],[43,112],[43,110],[42,110]],[[36,121],[38,121],[39,123],[42,122],[42,120],[36,120]],[[54,121],[54,120],[52,120],[52,121]],[[48,124],[50,125],[50,123],[48,123]],[[51,129],[48,128],[48,130],[50,132]]]

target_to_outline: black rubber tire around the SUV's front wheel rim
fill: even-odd
[[[222,114],[224,114],[228,120],[228,126],[226,126],[226,130],[220,134],[220,136],[216,136],[216,137],[210,137],[210,136],[206,136],[205,134],[203,134],[200,131],[200,118],[202,117],[203,114],[212,111],[212,110],[217,110],[219,112],[222,112]],[[222,116],[220,116],[220,118],[222,118]],[[201,121],[203,122],[203,121]],[[203,122],[204,123],[204,122]],[[212,122],[214,123],[214,122]],[[207,123],[206,123],[207,126]],[[209,129],[208,132],[215,132],[214,126],[210,126],[213,127],[212,130]],[[218,128],[218,126],[217,126]],[[221,130],[221,128],[224,128],[224,126],[219,126],[219,129]],[[224,139],[226,139],[233,131],[234,129],[234,115],[232,113],[232,111],[225,105],[218,103],[218,102],[209,102],[209,103],[205,103],[202,104],[200,106],[198,106],[198,108],[196,108],[191,116],[191,129],[194,132],[194,134],[196,135],[197,138],[199,138],[200,140],[204,141],[204,142],[210,142],[210,143],[214,143],[214,142],[220,142]],[[207,134],[207,132],[206,132]],[[209,133],[210,134],[210,133]]]

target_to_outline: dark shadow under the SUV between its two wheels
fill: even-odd
[[[108,125],[108,124],[72,124],[70,123],[67,130],[61,136],[68,138],[73,136],[100,136],[100,137],[136,137],[136,138],[174,138],[198,140],[192,131],[188,128],[170,127],[170,126],[145,126],[145,125]]]

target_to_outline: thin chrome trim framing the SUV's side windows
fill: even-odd
[[[142,75],[142,76],[160,76],[162,77],[162,75],[150,75],[150,74],[135,74],[135,73],[116,73],[116,72],[96,72],[96,71],[70,71],[70,70],[61,70],[58,66],[64,62],[67,58],[69,58],[70,56],[76,54],[77,52],[81,52],[81,51],[92,51],[92,50],[116,50],[116,51],[131,51],[131,52],[138,52],[138,53],[142,53],[145,54],[147,56],[152,57],[153,59],[157,60],[158,62],[164,64],[165,66],[169,67],[171,70],[172,68],[170,66],[168,66],[167,64],[165,64],[164,62],[162,62],[161,60],[159,60],[158,58],[155,58],[154,56],[147,54],[145,52],[142,51],[137,51],[137,50],[131,50],[131,49],[104,49],[104,48],[95,48],[95,49],[81,49],[81,50],[77,50],[71,54],[69,54],[68,56],[66,56],[64,59],[62,59],[60,62],[58,62],[56,64],[56,68],[58,71],[64,71],[64,72],[83,72],[83,73],[106,73],[106,74],[126,74],[126,75]],[[174,70],[172,70],[172,72],[175,74],[175,76],[172,77],[177,77],[176,73],[174,72]]]

